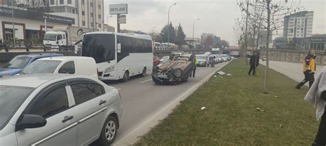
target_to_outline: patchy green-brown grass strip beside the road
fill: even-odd
[[[311,145],[319,122],[303,99],[308,88],[270,70],[263,94],[265,66],[257,76],[248,68],[230,62],[221,69],[230,76],[210,78],[136,145]]]

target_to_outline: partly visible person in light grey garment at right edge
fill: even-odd
[[[312,146],[325,146],[326,145],[326,67],[316,78],[316,82],[309,88],[305,101],[313,104],[316,107],[316,119],[321,118],[318,132]]]

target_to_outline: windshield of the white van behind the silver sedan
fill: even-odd
[[[23,74],[34,74],[34,73],[54,73],[58,64],[61,61],[54,60],[36,60],[23,70]]]

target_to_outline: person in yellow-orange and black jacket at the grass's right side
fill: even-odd
[[[305,75],[305,79],[303,79],[298,85],[296,85],[297,89],[300,89],[306,82],[309,82],[309,88],[314,83],[314,73],[316,71],[316,53],[312,49],[309,51],[308,55],[303,59],[303,74]]]

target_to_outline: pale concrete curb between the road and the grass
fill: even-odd
[[[232,60],[230,62],[232,62]],[[219,71],[224,66],[228,65],[230,62],[227,62],[223,66],[219,67],[216,71]],[[171,112],[173,112],[173,109],[180,104],[180,101],[183,101],[189,95],[193,94],[195,90],[197,90],[197,88],[202,86],[202,84],[207,82],[210,77],[215,75],[216,71],[213,71],[213,73],[210,73],[207,77],[197,82],[197,84],[186,90],[186,92],[182,93],[182,95],[171,101],[169,104],[163,106],[163,108],[158,110],[158,112],[149,116],[146,121],[143,121],[135,129],[131,130],[131,132],[128,132],[127,136],[120,138],[120,140],[113,143],[113,145],[134,145],[135,143],[137,143],[141,136],[146,134],[146,132],[149,132],[149,130],[151,130],[151,127],[154,127],[155,125],[160,123],[160,120],[166,118],[169,114],[171,114]]]

